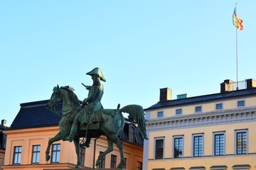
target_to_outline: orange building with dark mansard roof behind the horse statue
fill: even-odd
[[[47,101],[22,103],[7,135],[4,170],[42,170],[42,169],[73,169],[77,162],[73,142],[54,142],[50,149],[51,159],[46,162],[48,141],[58,132],[58,115],[46,111]],[[61,107],[59,107],[61,108]],[[134,134],[129,130],[135,129]],[[135,134],[136,133],[136,134]],[[126,165],[124,169],[142,169],[143,141],[137,135],[137,127],[127,121],[120,138],[124,145]],[[82,140],[82,139],[81,139]],[[92,139],[90,147],[80,149],[81,167],[97,168],[95,162],[100,152],[107,149],[105,136]],[[114,151],[107,154],[98,168],[110,169],[119,164],[119,149],[114,145]]]

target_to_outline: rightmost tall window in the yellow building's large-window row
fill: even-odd
[[[247,154],[247,130],[235,132],[236,154]]]

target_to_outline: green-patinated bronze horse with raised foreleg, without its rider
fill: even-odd
[[[58,140],[68,140],[68,135],[70,133],[71,125],[76,115],[78,115],[79,111],[81,111],[80,101],[78,97],[75,95],[73,91],[68,89],[67,87],[59,87],[55,86],[53,88],[53,94],[50,97],[50,101],[46,105],[50,111],[55,111],[55,107],[58,103],[63,103],[61,119],[59,123],[60,131],[55,137],[49,140],[48,147],[46,149],[46,161],[50,159],[50,145],[53,142]],[[100,164],[103,157],[106,154],[110,153],[114,149],[114,145],[116,144],[119,149],[119,154],[121,156],[120,162],[117,168],[122,168],[122,165],[125,164],[124,159],[124,149],[122,145],[122,141],[119,140],[119,133],[124,128],[124,116],[122,113],[129,113],[132,118],[134,118],[135,123],[137,123],[139,130],[141,132],[142,138],[148,140],[149,138],[146,136],[146,126],[144,120],[144,109],[139,105],[129,105],[124,106],[124,108],[117,109],[102,109],[100,111],[100,115],[102,117],[102,121],[100,122],[99,129],[89,128],[87,130],[87,125],[80,125],[78,130],[78,135],[74,138],[75,144],[75,152],[77,154],[78,162],[76,164],[76,168],[80,166],[80,137],[100,137],[101,135],[107,136],[107,150],[99,155],[96,161],[96,166]],[[94,114],[94,113],[92,113]]]

